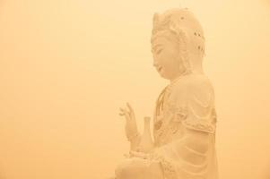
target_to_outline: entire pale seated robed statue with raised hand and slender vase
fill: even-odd
[[[187,8],[170,9],[154,14],[151,41],[153,66],[170,84],[156,101],[154,141],[149,117],[140,133],[133,108],[120,108],[130,152],[116,178],[217,179],[214,92],[202,68],[203,29]]]

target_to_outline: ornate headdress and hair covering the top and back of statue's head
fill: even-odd
[[[165,13],[154,13],[152,19],[151,42],[159,36],[165,36],[170,31],[179,42],[179,57],[187,72],[193,71],[189,54],[205,55],[204,31],[196,17],[187,8],[170,9]]]

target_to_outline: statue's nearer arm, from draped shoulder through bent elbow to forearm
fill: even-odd
[[[182,137],[155,150],[166,158],[177,156],[188,163],[200,164],[205,161],[215,132],[213,89],[207,83],[188,84],[182,89],[173,96],[177,102],[172,110]]]

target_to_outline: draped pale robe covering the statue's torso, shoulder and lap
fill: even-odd
[[[180,76],[156,101],[154,150],[149,162],[161,163],[164,179],[217,179],[215,128],[211,82],[203,74]],[[206,152],[178,145],[185,138],[185,129],[208,133]]]

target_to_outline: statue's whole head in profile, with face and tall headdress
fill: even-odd
[[[179,75],[203,73],[204,31],[187,9],[170,9],[153,15],[153,65],[161,77],[173,80]]]

